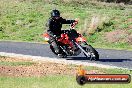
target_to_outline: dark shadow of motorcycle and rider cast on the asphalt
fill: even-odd
[[[86,58],[86,57],[70,57],[70,58],[67,58],[66,60],[89,60],[89,58]],[[98,62],[125,62],[125,61],[132,61],[132,59],[99,59]]]

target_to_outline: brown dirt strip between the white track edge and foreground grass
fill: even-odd
[[[24,60],[18,58],[6,58],[1,57],[0,63],[2,61],[6,62],[32,62],[31,60]],[[53,62],[34,62],[34,64],[30,66],[19,65],[19,66],[6,66],[0,65],[0,76],[45,76],[45,75],[76,75],[78,66],[73,65],[65,65],[61,63],[53,63]],[[97,74],[101,73],[98,70],[91,70],[88,73]]]

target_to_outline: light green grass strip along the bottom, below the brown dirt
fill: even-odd
[[[129,84],[85,84],[80,86],[74,76],[0,77],[0,88],[131,88]]]

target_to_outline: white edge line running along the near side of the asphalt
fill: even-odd
[[[7,56],[7,57],[18,57],[24,59],[32,59],[33,61],[49,61],[55,63],[62,63],[62,64],[75,64],[75,65],[83,65],[83,66],[96,66],[100,68],[117,68],[117,69],[128,69],[122,68],[117,66],[110,66],[110,65],[103,65],[98,63],[90,63],[90,62],[81,62],[81,61],[74,61],[74,60],[65,60],[65,59],[57,59],[57,58],[50,58],[50,57],[41,57],[41,56],[32,56],[32,55],[23,55],[23,54],[16,54],[16,53],[7,53],[7,52],[0,52],[0,56]]]

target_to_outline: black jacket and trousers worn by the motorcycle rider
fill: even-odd
[[[55,37],[59,37],[61,35],[62,24],[71,24],[73,22],[75,22],[75,20],[66,20],[63,19],[62,17],[60,17],[59,19],[49,18],[47,24],[48,26],[47,32],[50,35],[49,43],[53,46],[57,54],[59,54],[60,51]]]

